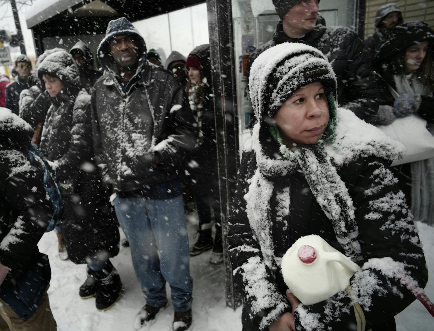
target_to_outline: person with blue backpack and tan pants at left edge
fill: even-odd
[[[0,108],[0,329],[54,331],[48,256],[37,244],[63,215],[50,166],[33,128]]]

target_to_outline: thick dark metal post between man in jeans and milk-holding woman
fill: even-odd
[[[223,232],[226,305],[241,305],[241,295],[233,282],[232,266],[227,256],[228,218],[233,209],[239,164],[238,111],[233,50],[232,4],[230,0],[207,0],[208,32],[214,119],[217,139],[220,213]]]

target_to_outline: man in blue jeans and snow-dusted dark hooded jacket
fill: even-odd
[[[191,325],[192,282],[179,164],[196,129],[181,82],[146,59],[125,18],[109,22],[98,47],[104,74],[92,91],[95,158],[115,190],[116,216],[130,243],[146,305],[136,329],[174,305],[174,330]]]

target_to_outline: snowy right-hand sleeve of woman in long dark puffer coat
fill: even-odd
[[[68,151],[56,160],[61,178],[70,177],[92,155],[92,123],[90,95],[79,92],[72,108],[72,140]]]

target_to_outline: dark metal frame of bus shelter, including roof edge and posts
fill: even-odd
[[[115,11],[92,15],[92,10],[79,13],[79,8],[94,0],[59,0],[27,19],[32,29],[36,52],[44,52],[43,38],[82,34],[103,34],[110,20],[125,16],[130,21],[143,20],[199,3],[207,3],[211,66],[214,68],[215,122],[217,160],[220,185],[220,207],[224,234],[224,273],[226,304],[233,309],[242,304],[233,282],[232,268],[227,258],[227,220],[232,210],[240,163],[237,90],[234,59],[231,0],[98,0]],[[356,0],[354,26],[363,39],[366,0]],[[75,15],[75,13],[79,13]],[[94,13],[96,13],[94,11]],[[53,28],[55,27],[55,28]]]

